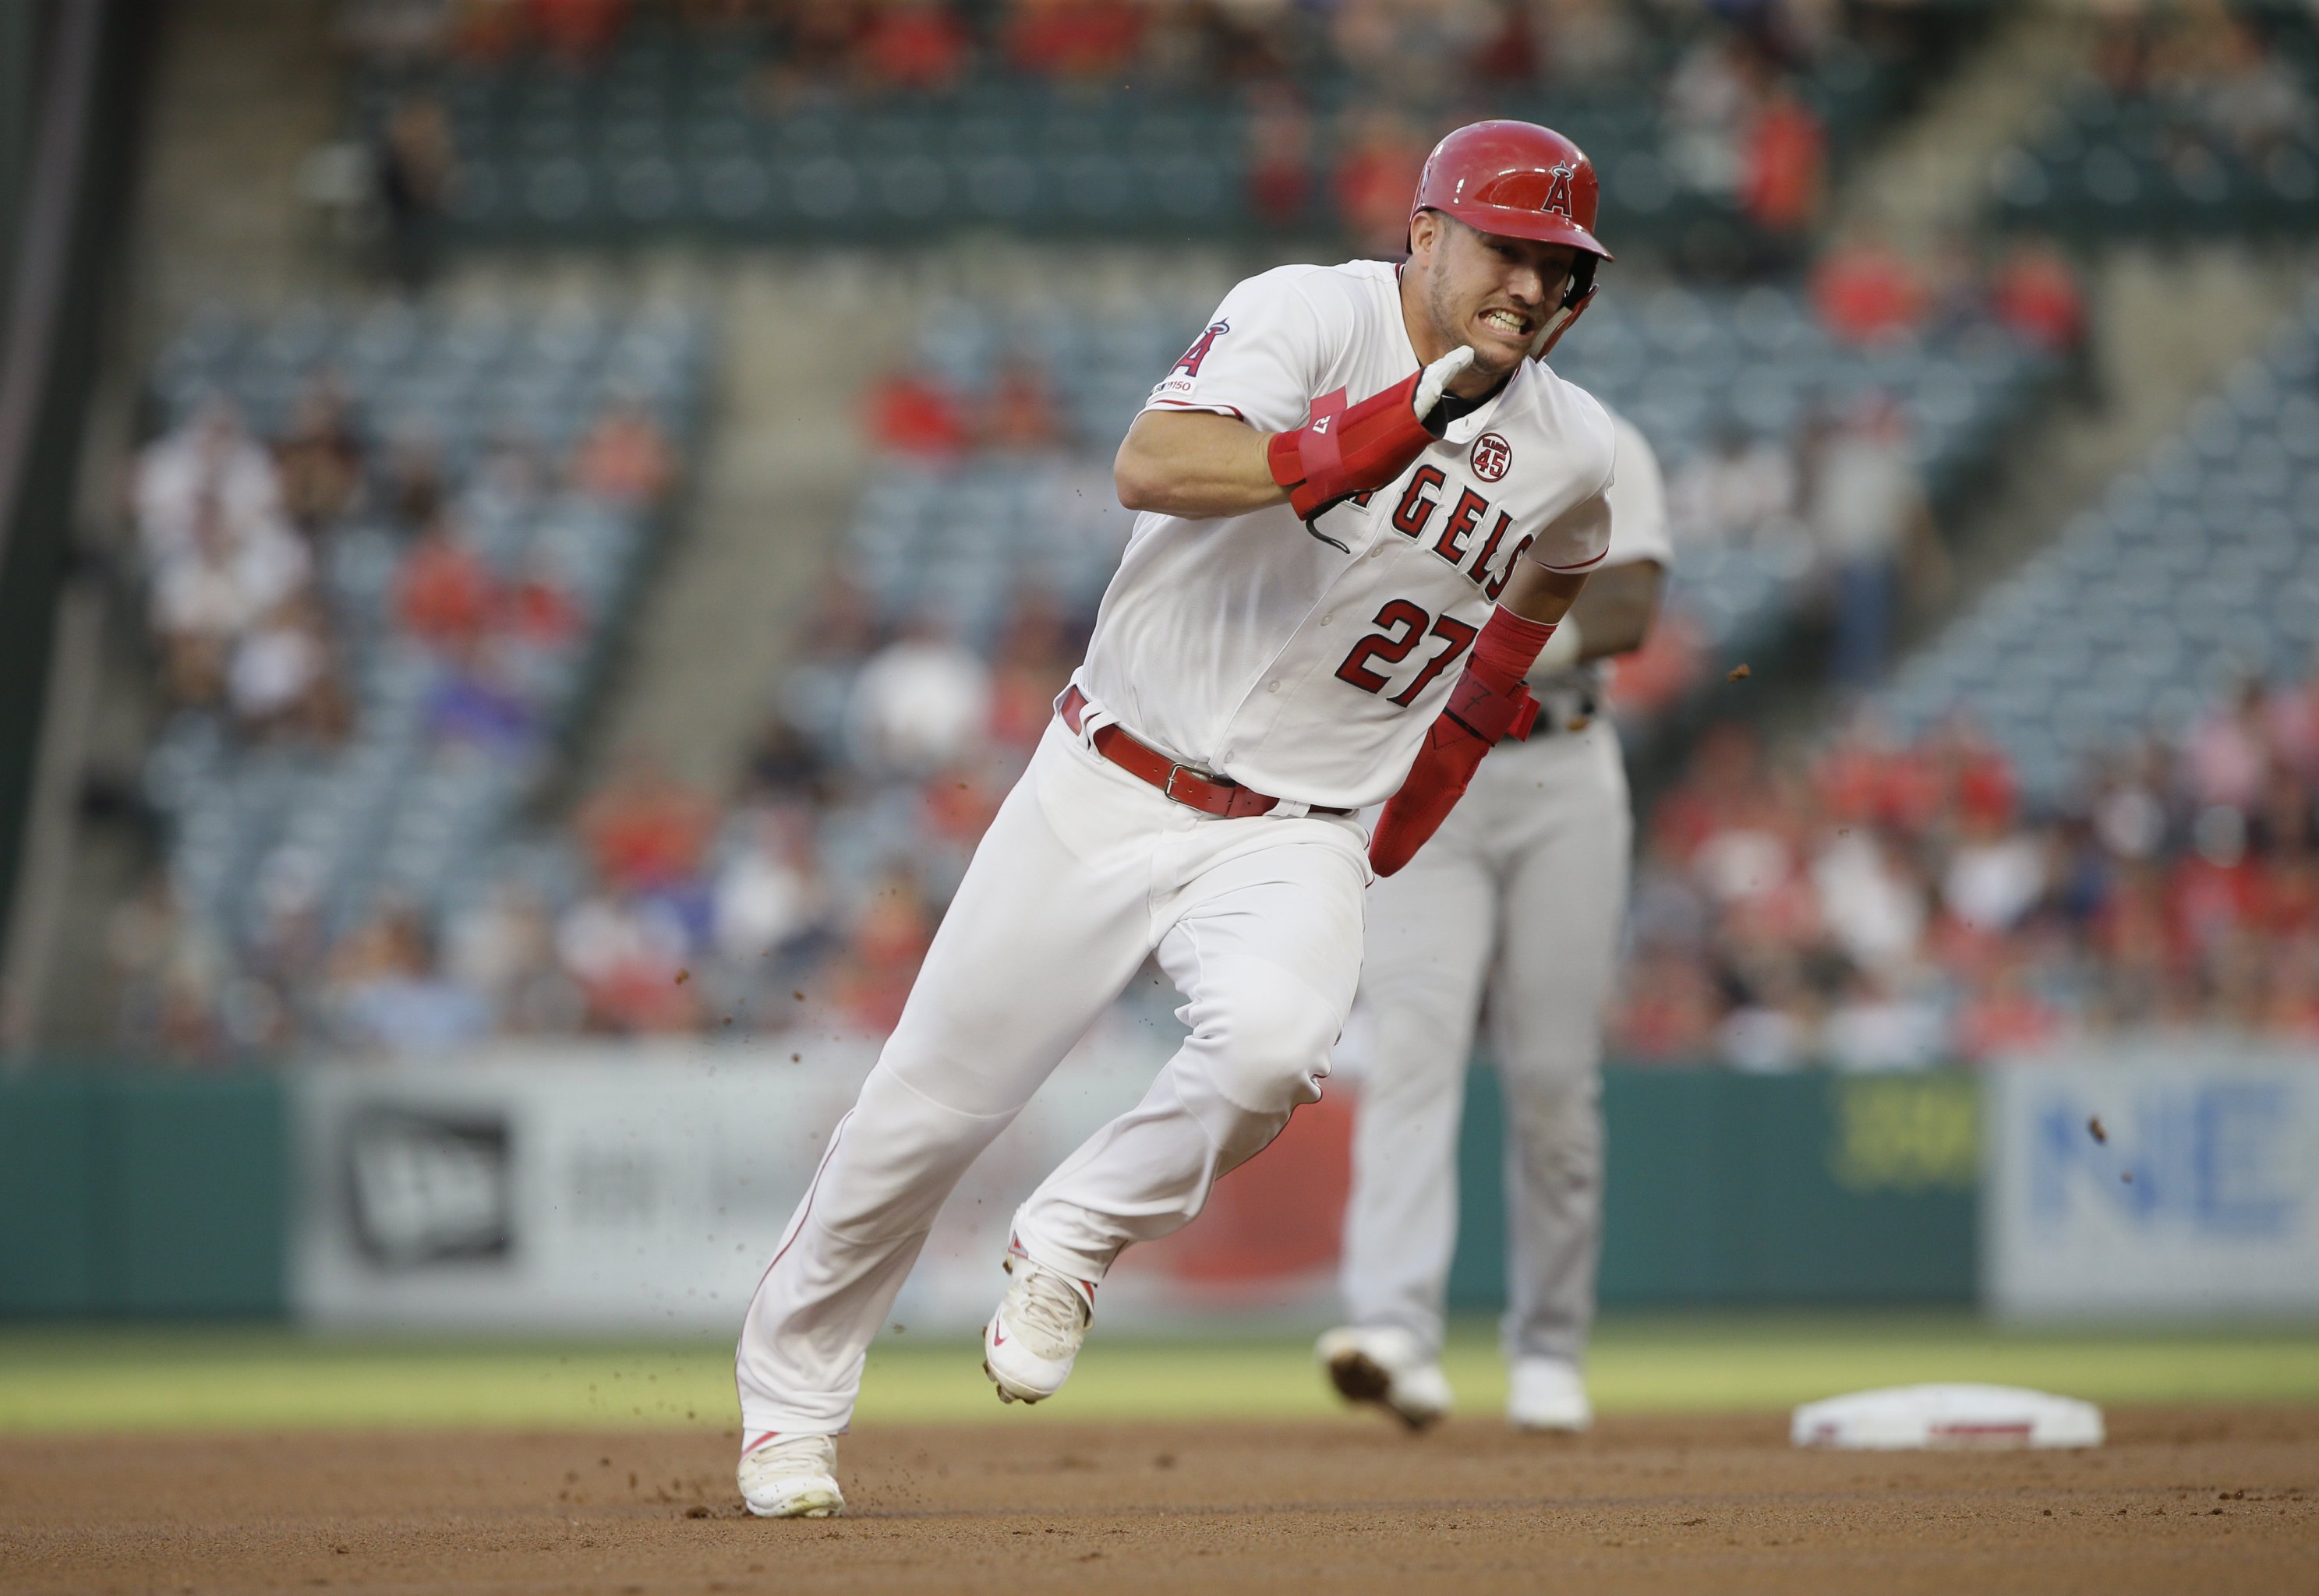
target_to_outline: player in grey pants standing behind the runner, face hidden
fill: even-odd
[[[1442,1294],[1456,1248],[1456,1144],[1482,1000],[1505,1095],[1507,1417],[1586,1429],[1579,1362],[1602,1243],[1602,1009],[1626,914],[1619,733],[1600,661],[1640,647],[1672,564],[1658,459],[1614,418],[1609,554],[1531,668],[1537,726],[1503,747],[1408,870],[1368,891],[1361,1083],[1345,1213],[1352,1325],[1320,1339],[1347,1399],[1412,1429],[1449,1413]]]

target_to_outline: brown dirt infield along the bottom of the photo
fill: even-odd
[[[0,1441],[0,1591],[2314,1591],[2319,1408],[2092,1454],[1802,1454],[1783,1422],[886,1427],[765,1524],[714,1431]]]

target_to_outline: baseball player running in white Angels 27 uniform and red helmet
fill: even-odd
[[[1609,543],[1609,418],[1535,360],[1609,257],[1595,200],[1561,135],[1461,128],[1405,267],[1248,278],[1153,390],[1088,659],[749,1301],[751,1512],[842,1510],[833,1438],[942,1199],[1146,956],[1190,1037],[1016,1211],[999,1399],[1053,1396],[1111,1260],[1320,1097],[1371,868],[1528,731],[1524,675]]]

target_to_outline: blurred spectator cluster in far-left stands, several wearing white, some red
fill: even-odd
[[[494,441],[455,494],[431,436],[373,438],[327,376],[271,441],[209,397],[146,445],[130,487],[162,694],[241,738],[343,740],[348,617],[320,578],[341,538],[385,531],[392,631],[452,666],[429,728],[519,749],[540,728],[519,703],[517,656],[573,645],[582,603],[545,550],[496,568],[466,531],[471,515],[506,520],[550,492],[645,508],[673,473],[659,425],[626,401],[608,404],[564,462],[519,436]]]

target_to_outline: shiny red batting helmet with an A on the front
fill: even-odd
[[[1586,151],[1537,123],[1468,123],[1426,155],[1410,220],[1454,216],[1477,232],[1568,244],[1579,253],[1563,309],[1542,332],[1537,357],[1579,318],[1595,290],[1595,264],[1612,253],[1593,237],[1602,183]]]

